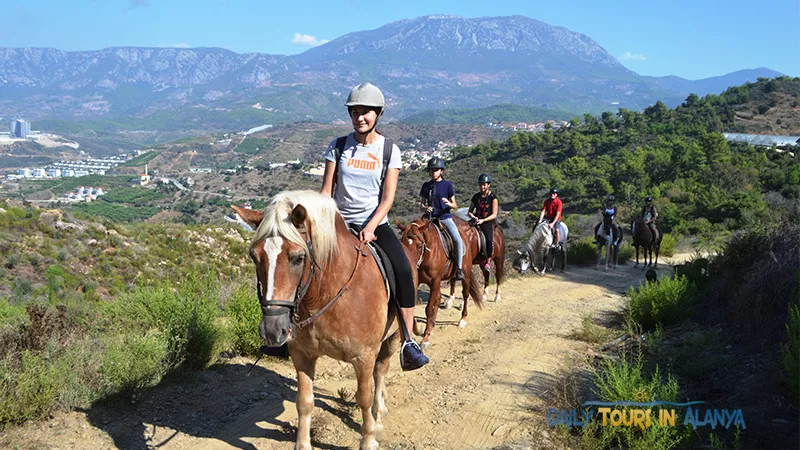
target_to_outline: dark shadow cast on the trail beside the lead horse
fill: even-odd
[[[249,364],[217,364],[205,371],[173,375],[180,379],[165,379],[158,386],[104,399],[81,411],[93,426],[108,433],[117,448],[158,448],[179,433],[248,450],[256,446],[245,438],[293,443],[296,427],[279,417],[287,408],[294,409],[296,381],[262,366],[246,376],[248,370]],[[314,397],[315,411],[327,411],[359,432],[360,425],[347,412],[351,404],[317,389]],[[259,422],[274,427],[265,429]],[[312,428],[314,448],[349,448],[320,442],[328,439],[315,434]]]

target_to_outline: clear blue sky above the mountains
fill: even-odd
[[[800,0],[3,1],[0,47],[221,47],[291,55],[428,14],[523,15],[584,33],[642,75],[768,67],[800,76]]]

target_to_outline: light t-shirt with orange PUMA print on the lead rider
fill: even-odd
[[[383,171],[384,137],[378,135],[370,145],[356,141],[353,133],[347,135],[341,161],[339,161],[339,180],[333,199],[345,222],[365,226],[375,214],[380,204],[381,172]],[[336,162],[336,139],[325,150],[325,159]],[[392,144],[392,157],[389,169],[402,169],[400,149]],[[380,224],[387,223],[384,217]]]

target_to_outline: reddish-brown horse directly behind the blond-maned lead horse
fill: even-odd
[[[458,226],[458,232],[461,234],[461,239],[468,242],[468,235],[470,226],[463,220],[453,217],[453,220]],[[418,219],[408,225],[403,225],[395,220],[397,226],[402,230],[401,242],[406,248],[406,253],[416,255],[416,259],[412,260],[411,264],[418,270],[419,283],[427,284],[431,290],[430,298],[428,299],[428,306],[425,308],[425,333],[422,337],[420,347],[426,349],[430,347],[431,333],[436,326],[436,316],[439,314],[439,302],[442,299],[442,280],[451,280],[455,276],[455,264],[452,262],[448,264],[448,256],[442,241],[439,239],[439,234],[434,225],[428,219]],[[446,231],[442,231],[446,233]],[[462,267],[471,268],[474,259],[473,249],[471,245],[465,245],[464,259]],[[475,300],[478,308],[483,308],[483,296],[478,280],[472,276],[471,270],[464,270],[464,281],[461,283],[462,295],[464,303],[461,307],[461,320],[458,322],[458,327],[463,328],[467,326],[467,300],[470,294]]]

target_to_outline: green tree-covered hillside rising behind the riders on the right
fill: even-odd
[[[746,131],[737,111],[754,107],[758,99],[775,95],[797,101],[798,92],[800,78],[783,77],[720,96],[692,95],[675,109],[658,102],[641,113],[586,114],[559,130],[458,147],[446,177],[463,202],[477,191],[477,176],[488,172],[504,209],[531,210],[537,218],[551,186],[561,190],[567,217],[595,214],[605,196],[614,194],[620,219],[627,221],[652,195],[664,231],[705,236],[718,244],[732,230],[800,218],[800,149],[729,143],[721,134]],[[767,113],[789,115],[783,109]],[[400,194],[398,208],[411,212],[409,197],[426,175],[404,175],[407,191]]]

